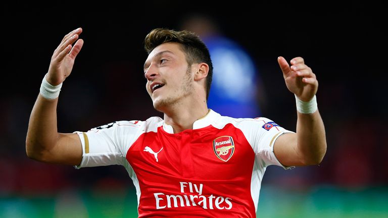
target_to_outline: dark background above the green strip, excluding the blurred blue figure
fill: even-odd
[[[388,182],[386,15],[380,3],[271,3],[238,1],[114,2],[3,5],[0,99],[0,194],[56,192],[68,187],[132,187],[118,166],[74,170],[28,159],[29,115],[51,56],[71,30],[85,43],[58,106],[60,132],[87,131],[118,120],[162,116],[145,89],[146,34],[179,29],[190,13],[212,17],[243,46],[263,80],[263,116],[295,131],[295,98],[276,58],[301,56],[319,81],[318,108],[327,153],[320,166],[284,171],[270,167],[263,184],[368,187]],[[133,196],[134,197],[134,196]]]

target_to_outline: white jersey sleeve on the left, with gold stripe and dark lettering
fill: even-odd
[[[82,161],[75,168],[124,165],[126,152],[140,129],[138,123],[119,121],[87,132],[74,132],[82,143]]]

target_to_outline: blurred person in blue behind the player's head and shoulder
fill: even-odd
[[[197,33],[209,49],[214,70],[208,106],[229,117],[261,116],[264,89],[258,69],[243,46],[224,36],[214,19],[206,15],[188,15],[180,26]]]

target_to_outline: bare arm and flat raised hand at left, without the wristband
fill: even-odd
[[[82,29],[78,28],[68,33],[54,51],[49,72],[45,76],[53,86],[61,84],[70,75],[83,45],[83,40],[78,40],[81,32]],[[58,132],[57,104],[58,97],[46,99],[38,95],[28,123],[27,156],[42,162],[79,165],[82,160],[81,141],[76,133]]]

